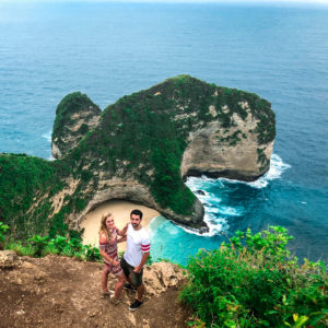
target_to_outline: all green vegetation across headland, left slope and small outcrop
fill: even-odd
[[[0,220],[10,226],[12,235],[25,239],[38,233],[65,235],[97,191],[110,194],[106,187],[110,179],[144,186],[168,219],[200,226],[201,213],[195,215],[198,200],[180,174],[190,133],[211,121],[229,129],[235,126],[235,115],[245,119],[250,113],[263,122],[254,131],[259,145],[276,136],[270,103],[188,75],[124,96],[102,113],[98,125],[81,124],[81,117],[90,115],[92,120],[98,113],[98,107],[79,92],[60,102],[52,132],[59,145],[63,142],[60,160],[0,154]],[[79,134],[77,144],[74,133]],[[232,145],[241,138],[235,133]],[[66,149],[68,144],[73,147]],[[263,165],[268,163],[265,156],[259,153]]]

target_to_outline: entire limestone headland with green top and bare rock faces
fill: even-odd
[[[44,227],[52,233],[66,224],[79,229],[90,210],[110,199],[139,202],[199,229],[203,207],[184,177],[254,180],[269,168],[274,113],[255,94],[180,75],[120,98],[99,120],[96,105],[79,93],[65,97],[59,107],[55,127],[65,133],[60,137],[54,127],[52,145],[62,157],[40,161],[46,167],[37,176],[46,171],[46,179],[25,188],[34,201],[21,214],[12,213],[19,218],[26,208],[24,220],[45,220]],[[82,136],[84,117],[92,124]],[[23,165],[22,159],[9,157],[2,160]],[[36,159],[24,161],[35,165]]]

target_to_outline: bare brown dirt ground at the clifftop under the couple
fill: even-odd
[[[22,257],[21,266],[0,269],[0,327],[186,327],[189,313],[177,288],[130,312],[133,292],[122,291],[114,305],[101,293],[103,265],[47,256]],[[115,279],[109,277],[108,288]]]

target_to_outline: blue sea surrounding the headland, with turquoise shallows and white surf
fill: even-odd
[[[300,259],[328,262],[328,7],[0,1],[0,152],[50,159],[70,92],[105,108],[181,73],[270,101],[277,139],[256,183],[189,178],[210,233],[155,219],[153,257],[186,263],[222,232],[282,225]]]

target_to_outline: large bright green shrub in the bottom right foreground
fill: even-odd
[[[237,232],[220,249],[200,250],[188,263],[180,298],[207,327],[326,327],[323,262],[303,266],[285,248],[286,230]]]

